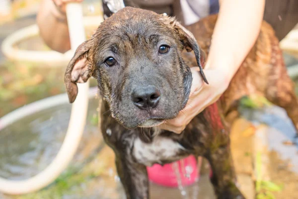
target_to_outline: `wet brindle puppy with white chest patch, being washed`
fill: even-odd
[[[198,114],[181,134],[152,127],[176,117],[185,107],[192,82],[186,62],[204,65],[202,52],[208,54],[216,19],[209,16],[184,28],[175,18],[126,7],[106,19],[69,63],[65,84],[70,102],[78,92],[76,83],[91,76],[97,79],[103,99],[101,131],[116,154],[128,199],[149,198],[146,166],[190,154],[209,160],[219,199],[244,198],[235,186],[225,120],[243,96],[264,95],[285,108],[298,127],[294,84],[287,75],[278,39],[266,22],[220,100]],[[184,49],[193,50],[195,56],[182,52]],[[203,70],[201,75],[205,78]]]

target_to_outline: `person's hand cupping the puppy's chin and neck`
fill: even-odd
[[[181,133],[197,114],[216,102],[227,89],[230,78],[221,69],[204,70],[209,84],[203,81],[199,71],[199,67],[191,68],[193,81],[185,108],[179,112],[176,118],[160,124],[161,129]]]

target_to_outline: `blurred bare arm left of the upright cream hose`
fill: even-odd
[[[52,0],[42,0],[37,25],[41,37],[50,48],[62,53],[71,49],[66,15],[56,8]]]

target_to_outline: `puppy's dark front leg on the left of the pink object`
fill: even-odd
[[[149,199],[146,166],[136,163],[129,155],[116,155],[117,172],[127,199]]]

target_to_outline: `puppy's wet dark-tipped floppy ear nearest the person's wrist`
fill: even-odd
[[[200,68],[201,76],[206,84],[208,84],[208,81],[206,79],[206,76],[203,71],[203,67],[205,64],[205,58],[206,54],[201,50],[199,47],[199,44],[195,38],[195,36],[185,27],[183,27],[174,17],[168,17],[170,21],[170,25],[174,28],[176,33],[178,34],[180,41],[182,42],[184,48],[190,52],[194,51],[197,64]]]

